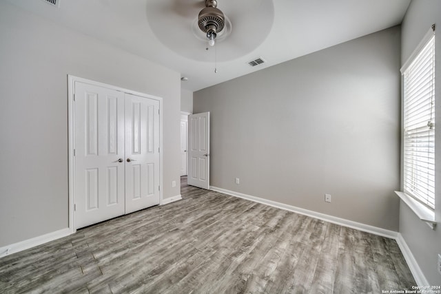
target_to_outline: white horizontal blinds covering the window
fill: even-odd
[[[403,72],[404,193],[435,207],[435,36]]]

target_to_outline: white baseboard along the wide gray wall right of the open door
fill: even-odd
[[[357,229],[359,231],[364,231],[367,233],[373,233],[375,235],[380,235],[382,237],[387,237],[387,238],[391,238],[391,239],[396,239],[398,236],[398,233],[396,231],[389,231],[387,229],[381,229],[378,227],[373,227],[370,226],[369,224],[362,224],[360,222],[353,222],[352,220],[345,220],[344,218],[337,218],[335,216],[329,216],[325,213],[320,213],[320,212],[316,212],[316,211],[311,211],[308,209],[302,209],[300,207],[294,207],[288,204],[283,204],[280,202],[276,202],[276,201],[272,201],[272,200],[267,200],[267,199],[263,199],[263,198],[258,198],[255,196],[250,196],[247,194],[243,194],[243,193],[238,193],[235,191],[229,191],[226,189],[222,189],[222,188],[218,188],[218,187],[210,187],[211,190],[216,191],[216,192],[220,192],[220,193],[225,193],[227,195],[230,196],[234,196],[234,197],[238,197],[238,198],[243,198],[246,200],[251,200],[254,202],[258,202],[258,203],[262,203],[262,204],[267,204],[271,207],[276,207],[279,209],[285,209],[287,211],[292,211],[295,213],[299,213],[302,214],[304,216],[310,216],[311,218],[318,218],[319,220],[325,220],[326,222],[331,222],[333,224],[340,224],[340,226],[344,226],[344,227],[349,227],[351,229]]]

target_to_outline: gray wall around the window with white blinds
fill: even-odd
[[[422,37],[436,23],[435,39],[435,114],[441,117],[441,1],[413,0],[402,23],[401,63],[407,61]],[[436,269],[437,255],[441,254],[441,128],[435,134],[435,220],[438,227],[432,231],[419,220],[403,202],[400,203],[400,233],[416,258],[420,269],[431,285],[441,285]]]

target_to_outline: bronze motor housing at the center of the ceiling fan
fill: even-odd
[[[225,16],[222,11],[216,8],[216,0],[206,0],[205,7],[199,12],[198,25],[201,31],[207,33],[207,36],[216,34],[223,30],[225,26]]]

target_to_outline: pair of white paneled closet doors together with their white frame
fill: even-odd
[[[69,76],[69,227],[161,202],[159,97]]]

